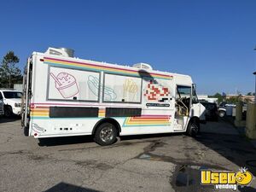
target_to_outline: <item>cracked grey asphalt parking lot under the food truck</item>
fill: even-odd
[[[254,160],[254,161],[253,161]],[[256,176],[256,149],[225,122],[183,134],[121,137],[101,147],[91,137],[25,137],[20,119],[0,119],[0,191],[212,191],[201,169]],[[255,191],[255,179],[250,187]]]

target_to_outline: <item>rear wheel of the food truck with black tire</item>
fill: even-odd
[[[115,143],[117,128],[111,123],[102,123],[96,128],[94,141],[99,145],[106,146]]]

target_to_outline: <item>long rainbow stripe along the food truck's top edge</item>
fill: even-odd
[[[78,68],[78,69],[86,69],[90,71],[96,72],[108,72],[108,73],[117,73],[117,74],[125,74],[130,76],[144,76],[144,77],[153,77],[155,79],[173,79],[172,75],[160,74],[160,73],[143,73],[138,72],[137,70],[125,69],[119,67],[107,67],[98,64],[80,62],[80,61],[67,61],[61,59],[54,59],[50,57],[44,57],[44,63],[49,64],[55,67],[70,67],[70,68]]]

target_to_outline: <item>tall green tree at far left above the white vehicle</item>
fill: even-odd
[[[0,87],[11,88],[15,83],[22,82],[22,75],[19,67],[15,65],[20,61],[14,51],[9,51],[2,61],[0,67]]]

